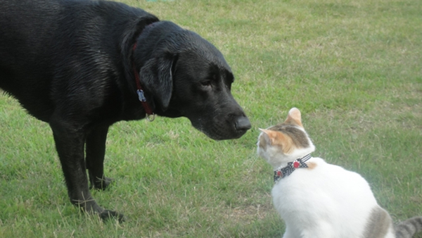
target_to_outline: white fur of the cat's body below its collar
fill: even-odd
[[[322,158],[307,163],[309,168],[296,169],[274,184],[271,193],[281,218],[287,226],[302,220],[309,226],[328,225],[341,237],[359,237],[371,210],[378,206],[368,182]]]

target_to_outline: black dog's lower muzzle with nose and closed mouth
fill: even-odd
[[[238,139],[251,127],[245,115],[227,116],[226,118],[198,118],[191,120],[193,127],[215,140]]]

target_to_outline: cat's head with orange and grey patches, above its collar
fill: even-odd
[[[274,169],[315,151],[305,132],[298,108],[291,108],[284,123],[260,129],[257,153]]]

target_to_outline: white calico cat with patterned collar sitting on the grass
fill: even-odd
[[[271,194],[286,222],[283,238],[404,238],[422,231],[422,217],[394,226],[361,175],[310,156],[315,146],[298,108],[260,130],[257,153],[274,168]]]

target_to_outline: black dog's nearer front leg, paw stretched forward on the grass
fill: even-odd
[[[83,127],[77,127],[74,122],[70,123],[59,117],[52,117],[50,126],[53,130],[58,157],[65,175],[70,201],[81,208],[82,211],[98,213],[103,219],[115,217],[122,220],[122,214],[101,208],[89,192],[84,160],[86,135]]]

